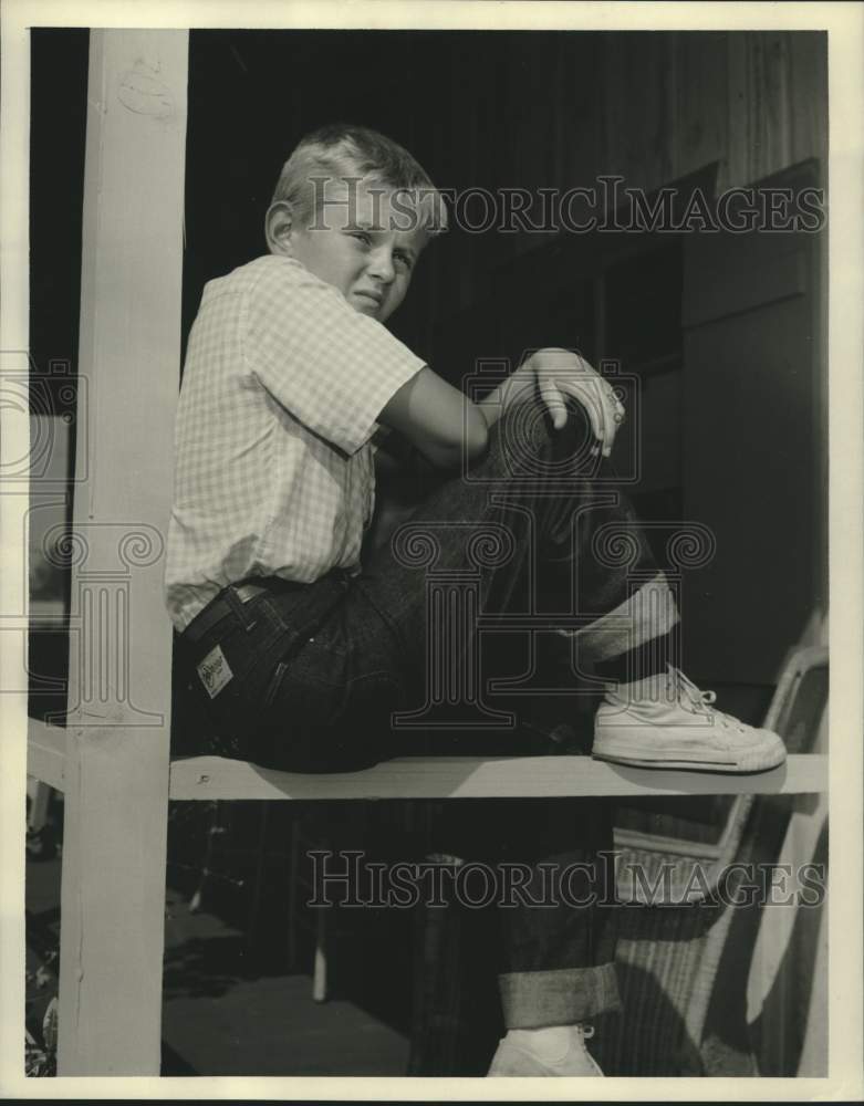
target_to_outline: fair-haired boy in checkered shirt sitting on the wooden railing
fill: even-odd
[[[178,408],[166,599],[225,750],[295,771],[361,766],[392,754],[394,708],[421,702],[434,632],[427,562],[394,541],[360,563],[383,463],[371,439],[383,427],[454,474],[414,519],[428,528],[436,568],[479,572],[483,613],[513,609],[541,577],[559,597],[575,582],[577,613],[591,616],[559,630],[617,681],[597,712],[594,755],[725,771],[779,764],[775,734],[714,711],[711,693],[667,662],[678,617],[668,586],[629,508],[597,490],[596,452],[608,456],[623,417],[608,385],[580,357],[541,349],[472,403],[385,330],[444,220],[406,150],[366,128],[324,127],[282,170],[269,253],[205,289]],[[471,479],[458,479],[460,466]],[[626,566],[597,553],[610,525],[634,543]],[[503,542],[508,556],[478,559],[472,534]],[[653,604],[628,595],[634,570]],[[532,863],[575,855],[572,841],[555,844],[566,820],[542,821],[509,831],[508,847],[528,848]],[[508,1034],[490,1074],[601,1074],[584,1026],[617,995],[586,915],[502,918]]]

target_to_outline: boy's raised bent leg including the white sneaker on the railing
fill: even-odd
[[[497,619],[501,634],[518,630],[513,616],[523,615],[525,628],[575,638],[580,662],[617,684],[597,711],[594,755],[728,772],[777,766],[785,758],[777,734],[714,710],[714,693],[672,666],[672,592],[583,425],[574,413],[553,430],[544,413],[511,409],[482,461],[375,551],[358,586],[391,628],[403,682],[420,707],[441,669],[476,678],[485,635],[498,636]],[[454,617],[447,592],[456,586],[472,594]]]

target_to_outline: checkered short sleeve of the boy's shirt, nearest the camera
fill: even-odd
[[[247,368],[306,429],[345,453],[425,362],[300,262],[273,258],[251,289]]]

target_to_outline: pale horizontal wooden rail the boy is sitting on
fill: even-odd
[[[171,764],[171,799],[539,799],[805,794],[827,790],[827,758],[792,755],[771,772],[631,769],[589,757],[405,757],[362,772],[275,772],[192,757]]]

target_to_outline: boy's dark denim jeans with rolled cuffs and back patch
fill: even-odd
[[[490,677],[519,676],[508,670],[513,641],[542,639],[528,674],[542,688],[543,649],[562,668],[574,641],[580,662],[605,660],[677,618],[668,603],[636,602],[645,589],[666,591],[665,581],[580,425],[571,418],[554,431],[527,406],[506,414],[485,458],[444,482],[357,576],[272,582],[247,603],[233,588],[222,593],[226,617],[194,644],[195,623],[180,639],[202,698],[195,668],[216,646],[232,674],[207,700],[215,748],[301,772],[419,752],[561,751],[550,727],[531,721],[542,691],[511,687],[483,699]],[[566,718],[565,699],[559,710]],[[612,849],[604,803],[454,801],[441,832],[444,852],[528,865],[534,900],[543,865],[584,873],[571,899],[608,891],[605,866],[593,878],[584,868]],[[617,1004],[611,914],[560,898],[498,910],[509,1027],[581,1021]]]

